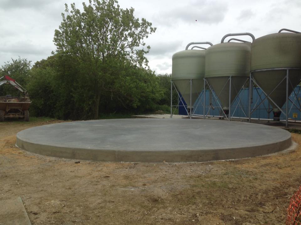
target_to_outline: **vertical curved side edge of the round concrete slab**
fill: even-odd
[[[251,146],[246,148],[210,149],[210,150],[179,150],[179,151],[117,151],[100,149],[82,149],[49,146],[23,141],[17,136],[17,147],[28,152],[45,156],[68,159],[81,159],[105,162],[206,162],[213,160],[228,160],[248,158],[270,153],[276,153],[292,144],[291,137],[272,144]]]

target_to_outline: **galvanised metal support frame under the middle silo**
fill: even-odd
[[[246,83],[248,82],[248,80],[249,80],[249,79],[247,79]],[[220,94],[222,93],[222,91],[224,90],[224,88],[226,87],[226,85],[227,85],[228,82],[230,82],[230,83],[229,83],[229,114],[226,115],[225,112],[224,112],[224,110],[223,110],[223,107],[221,106],[221,104],[220,104],[219,101],[218,101],[218,98],[219,98]],[[246,86],[246,83],[244,83],[243,87]],[[245,116],[247,117],[247,113],[245,112],[245,110],[244,110],[244,108],[243,108],[243,106],[242,106],[242,103],[241,103],[241,101],[240,101],[240,98],[239,98],[239,94],[240,94],[241,90],[243,89],[243,87],[242,87],[242,88],[240,89],[240,91],[238,92],[238,91],[236,90],[235,86],[232,85],[232,76],[230,76],[229,79],[225,82],[225,84],[224,84],[222,90],[220,91],[220,93],[216,93],[217,96],[214,95],[214,90],[213,90],[213,88],[210,86],[210,84],[208,83],[207,79],[204,78],[204,90],[206,90],[206,88],[205,88],[206,84],[207,84],[208,87],[209,87],[209,92],[212,94],[212,96],[214,96],[214,101],[213,101],[212,104],[210,104],[209,110],[210,110],[210,108],[212,107],[212,105],[213,105],[214,103],[217,103],[217,104],[218,104],[218,108],[220,108],[220,109],[221,109],[221,112],[223,112],[223,117],[225,117],[225,118],[226,118],[227,120],[229,120],[229,121],[234,117],[234,113],[236,112],[236,109],[237,109],[237,108],[240,108],[240,109],[242,110],[242,112],[245,114]],[[232,86],[233,86],[233,87],[232,87]],[[231,106],[233,105],[233,103],[231,104],[231,90],[232,90],[232,88],[235,88],[235,92],[237,93],[235,99],[233,100],[233,103],[236,101],[236,102],[237,102],[237,105],[236,105],[235,110],[233,111],[232,116],[231,116]],[[204,92],[204,93],[205,93],[205,92]],[[204,95],[204,103],[205,103],[205,95]],[[204,104],[204,108],[203,108],[203,118],[204,118],[204,119],[205,119],[206,117],[209,116],[209,115],[208,115],[208,114],[209,114],[209,110],[207,111],[207,114],[206,114],[205,108],[208,108],[208,107],[206,107],[206,104]],[[219,117],[221,117],[221,116],[219,116]]]

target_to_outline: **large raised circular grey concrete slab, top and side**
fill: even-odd
[[[265,155],[291,145],[280,128],[203,119],[114,119],[56,123],[17,134],[41,155],[111,162],[200,162]]]

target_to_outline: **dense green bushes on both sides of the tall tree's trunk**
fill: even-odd
[[[170,75],[156,76],[151,70],[129,62],[116,62],[111,74],[106,84],[108,89],[100,98],[100,117],[156,110],[169,112]],[[10,75],[15,78],[13,73]],[[89,89],[89,77],[84,76],[82,67],[68,56],[55,54],[38,61],[27,71],[26,77],[28,82],[24,86],[32,101],[31,115],[76,120],[93,118],[95,102],[93,89]],[[176,95],[174,98],[175,102]]]

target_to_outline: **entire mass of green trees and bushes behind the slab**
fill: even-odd
[[[66,5],[65,13],[52,56],[32,68],[20,58],[2,68],[27,89],[31,115],[86,120],[169,110],[171,76],[156,76],[145,57],[143,40],[156,30],[150,22],[116,0],[83,3],[83,12]]]

